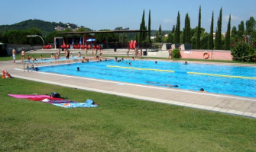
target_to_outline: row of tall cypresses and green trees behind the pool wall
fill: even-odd
[[[222,8],[219,11],[219,17],[217,20],[217,28],[214,32],[214,12],[212,11],[212,21],[210,26],[210,32],[207,33],[206,30],[201,27],[201,6],[199,7],[199,19],[198,25],[195,28],[190,27],[190,15],[187,13],[185,17],[185,26],[183,30],[180,30],[180,11],[177,14],[177,24],[173,25],[172,30],[168,33],[167,37],[164,37],[164,32],[161,30],[161,25],[159,30],[155,34],[154,42],[156,43],[179,43],[179,44],[191,44],[193,49],[224,49],[230,50],[232,46],[238,41],[244,41],[251,44],[253,47],[256,43],[256,21],[254,17],[250,17],[246,23],[241,21],[241,24],[237,27],[233,26],[231,29],[232,16],[229,14],[227,31],[222,34]],[[149,43],[151,42],[151,11],[149,11],[147,27],[144,24],[144,11],[142,15],[140,30],[148,30],[147,35],[145,33],[139,33],[139,43]],[[246,26],[246,30],[245,30]],[[137,40],[137,39],[136,39]]]

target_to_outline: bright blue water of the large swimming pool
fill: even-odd
[[[128,62],[131,62],[131,65],[128,65]],[[77,67],[79,67],[79,71],[76,70]],[[256,97],[256,79],[250,79],[256,77],[255,67],[193,63],[185,65],[179,62],[157,62],[157,64],[155,64],[154,61],[125,60],[123,62],[114,62],[110,60],[106,62],[74,63],[69,65],[40,67],[39,71],[160,87],[168,87],[166,84],[178,85],[179,87],[177,88],[186,90],[199,90],[203,87],[204,90],[211,93]],[[187,72],[222,74],[245,78],[188,74]]]

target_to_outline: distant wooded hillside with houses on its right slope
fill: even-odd
[[[41,20],[27,20],[27,21],[21,21],[17,24],[12,25],[0,25],[0,30],[3,32],[6,30],[28,30],[32,27],[38,28],[41,30],[42,34],[44,36],[48,35],[49,33],[54,31],[54,27],[67,27],[66,24],[63,24],[62,22],[56,23],[56,22],[50,22],[50,21],[41,21]],[[70,27],[76,27],[75,24],[70,24]]]

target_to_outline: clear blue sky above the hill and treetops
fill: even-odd
[[[256,18],[255,0],[1,0],[0,25],[11,25],[29,19],[76,24],[92,30],[129,27],[139,30],[142,14],[145,23],[151,10],[151,30],[172,30],[180,11],[180,29],[184,27],[185,15],[190,15],[190,27],[198,24],[201,6],[201,27],[209,33],[212,12],[214,30],[222,8],[222,33],[232,15],[231,25],[238,27],[241,21]]]

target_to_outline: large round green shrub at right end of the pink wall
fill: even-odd
[[[247,43],[237,43],[232,46],[231,54],[234,61],[255,62],[255,49]]]

